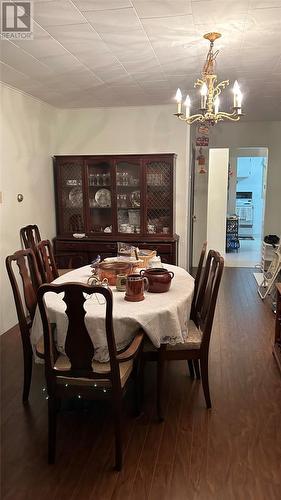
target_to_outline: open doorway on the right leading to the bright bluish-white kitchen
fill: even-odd
[[[267,148],[230,151],[227,217],[237,220],[239,243],[227,246],[228,267],[261,264],[267,158]]]

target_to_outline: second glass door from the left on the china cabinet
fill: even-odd
[[[109,161],[88,163],[89,231],[112,233],[112,171]]]

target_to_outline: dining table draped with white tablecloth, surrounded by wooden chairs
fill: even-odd
[[[144,300],[129,302],[124,300],[124,292],[111,286],[113,294],[113,328],[117,350],[124,349],[141,328],[156,348],[161,344],[183,343],[188,336],[194,279],[183,268],[165,264],[165,268],[174,273],[170,289],[165,293],[145,292]],[[87,283],[92,276],[90,265],[71,270],[56,278],[52,283]],[[66,304],[63,293],[48,292],[45,295],[50,323],[56,325],[55,341],[59,352],[64,353],[64,344],[68,328],[65,314]],[[85,325],[93,342],[94,359],[100,362],[109,360],[105,334],[105,301],[100,294],[87,296],[84,303]],[[35,311],[31,330],[31,343],[34,347],[43,335],[43,326],[39,308]],[[39,358],[35,356],[36,361]]]

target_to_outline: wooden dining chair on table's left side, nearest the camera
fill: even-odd
[[[16,272],[16,265],[18,266],[18,272]],[[30,248],[9,255],[6,258],[6,268],[13,290],[21,333],[24,366],[22,400],[26,402],[30,391],[33,359],[30,331],[37,305],[36,294],[41,285],[41,276],[35,255]],[[22,290],[20,289],[18,275],[21,277]],[[28,315],[26,315],[26,310]],[[43,356],[42,339],[37,345],[37,352],[39,355],[41,354],[41,357]]]

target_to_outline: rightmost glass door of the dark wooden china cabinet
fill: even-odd
[[[146,217],[147,234],[171,234],[173,221],[172,165],[163,161],[146,164]]]

